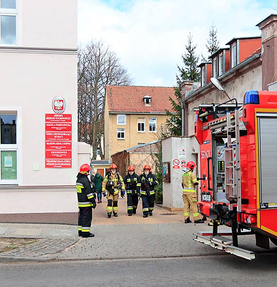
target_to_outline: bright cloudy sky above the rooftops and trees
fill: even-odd
[[[277,0],[78,0],[78,45],[103,41],[133,85],[174,86],[189,34],[207,57],[211,26],[223,48],[234,37],[260,36],[256,25],[270,14]]]

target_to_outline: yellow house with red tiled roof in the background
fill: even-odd
[[[173,87],[106,86],[105,158],[158,139],[166,122],[166,110],[173,112]]]

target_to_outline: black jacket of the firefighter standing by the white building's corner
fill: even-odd
[[[93,189],[91,188],[91,184],[87,175],[78,173],[77,181],[76,181],[76,189],[78,196],[78,206],[82,207],[95,207],[95,196]]]

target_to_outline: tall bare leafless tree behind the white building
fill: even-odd
[[[104,158],[101,138],[104,136],[106,85],[130,85],[132,79],[119,58],[101,41],[91,41],[78,49],[78,141],[97,147]]]

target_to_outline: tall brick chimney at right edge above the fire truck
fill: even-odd
[[[277,81],[277,14],[271,14],[256,26],[261,30],[262,90]]]

